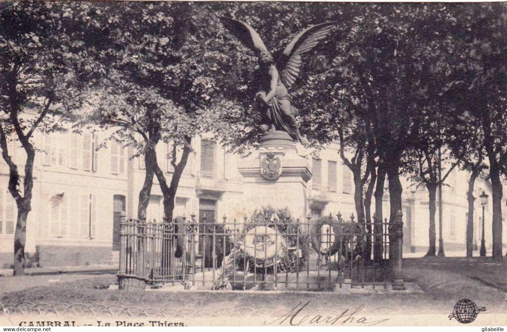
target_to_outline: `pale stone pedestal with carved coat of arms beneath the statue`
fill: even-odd
[[[308,160],[299,155],[294,140],[284,131],[264,134],[261,146],[238,165],[243,176],[247,215],[262,206],[287,207],[295,218],[305,217]],[[305,219],[302,219],[303,222]]]

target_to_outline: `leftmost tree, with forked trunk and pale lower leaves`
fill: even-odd
[[[73,16],[86,12],[81,4],[16,3],[0,11],[0,147],[9,166],[8,190],[17,206],[14,234],[14,275],[24,274],[26,220],[31,210],[33,162],[37,150],[33,136],[58,124],[56,105],[66,82],[85,82],[87,59],[75,38],[86,28]],[[86,13],[85,13],[86,15]],[[87,31],[93,33],[92,29]],[[88,67],[87,67],[88,68]],[[12,159],[9,142],[20,144],[23,171]]]

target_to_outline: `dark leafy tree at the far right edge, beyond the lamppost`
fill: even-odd
[[[480,128],[492,186],[492,255],[499,261],[502,259],[501,175],[506,174],[507,161],[505,4],[459,6],[455,17],[455,27],[446,40],[450,51],[445,55],[454,70],[442,93],[454,100],[456,109],[468,119],[470,126]]]

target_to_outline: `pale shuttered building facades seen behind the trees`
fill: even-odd
[[[35,137],[40,151],[35,160],[32,210],[27,220],[25,251],[29,267],[117,264],[120,217],[123,214],[127,218],[136,217],[144,161],[142,157],[130,158],[133,151],[105,140],[107,137],[106,133],[77,134],[65,129]],[[343,165],[338,148],[337,144],[331,144],[318,158],[304,149],[299,151],[308,159],[312,173],[305,202],[306,214],[312,217],[338,212],[350,216],[355,211],[352,173]],[[24,151],[15,142],[10,143],[9,150],[22,170]],[[173,171],[167,158],[170,151],[168,144],[157,146],[159,165],[168,179]],[[227,153],[218,143],[195,138],[177,190],[174,215],[195,213],[199,220],[204,215],[208,220],[222,220],[224,216],[241,219],[277,199],[245,201],[239,163],[239,156]],[[7,190],[9,172],[3,160],[0,174],[0,267],[9,268],[17,213]],[[455,170],[443,188],[443,238],[448,252],[464,253],[467,181],[467,172]],[[410,181],[404,181],[403,187],[404,252],[422,255],[428,246],[428,194]],[[483,190],[491,197],[489,182],[480,178],[476,198]],[[388,201],[386,190],[385,217],[389,217]],[[476,200],[474,215],[478,246],[482,223],[479,201]],[[491,198],[489,201],[485,210],[487,248],[491,246]],[[162,204],[163,196],[155,177],[147,211],[149,220],[162,219]]]

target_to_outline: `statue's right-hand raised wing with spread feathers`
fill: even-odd
[[[288,89],[296,82],[301,68],[301,55],[311,51],[326,38],[336,22],[312,25],[298,33],[276,60],[276,67],[282,69],[280,80]]]

